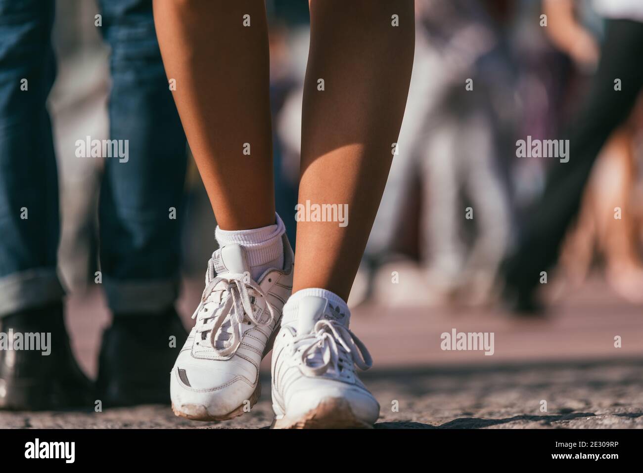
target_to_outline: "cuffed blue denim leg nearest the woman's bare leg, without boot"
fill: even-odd
[[[113,312],[158,312],[178,293],[186,139],[161,62],[152,1],[100,0],[100,8],[111,46],[110,138],[129,140],[126,162],[105,159],[103,282]]]

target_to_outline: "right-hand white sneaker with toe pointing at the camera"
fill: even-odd
[[[272,395],[275,429],[370,428],[379,404],[355,373],[372,360],[326,298],[303,296],[275,339]]]

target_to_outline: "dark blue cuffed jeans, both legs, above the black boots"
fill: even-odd
[[[100,7],[100,28],[112,50],[110,138],[129,140],[127,162],[98,158],[105,159],[102,281],[113,312],[156,312],[172,305],[178,292],[185,134],[161,62],[152,1],[100,0]],[[46,110],[55,78],[53,17],[53,0],[0,0],[0,316],[64,295]],[[176,219],[169,218],[171,207]]]

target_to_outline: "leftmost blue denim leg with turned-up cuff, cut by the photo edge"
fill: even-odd
[[[50,0],[0,0],[0,316],[59,301]]]

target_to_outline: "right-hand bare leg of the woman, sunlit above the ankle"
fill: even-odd
[[[348,225],[298,222],[293,293],[318,287],[346,300],[406,106],[413,0],[312,0],[310,9],[299,203],[347,204]]]

